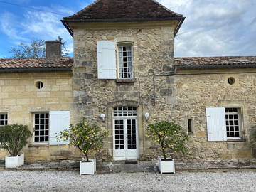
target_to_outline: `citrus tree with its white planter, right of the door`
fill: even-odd
[[[175,121],[157,121],[148,124],[147,136],[154,142],[158,143],[161,150],[161,158],[159,158],[160,173],[174,173],[174,159],[171,154],[178,152],[186,152],[188,148],[188,134],[183,131],[182,127]]]

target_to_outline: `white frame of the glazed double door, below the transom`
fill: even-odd
[[[127,119],[135,119],[136,120],[136,149],[137,149],[137,152],[136,152],[136,158],[132,158],[132,159],[128,159],[127,158],[127,145],[128,145],[128,138],[127,138]],[[124,120],[124,124],[126,126],[124,126],[124,158],[122,157],[115,157],[114,154],[114,150],[115,149],[115,123],[114,123],[114,120]],[[112,117],[112,128],[113,128],[113,159],[114,160],[137,160],[139,158],[139,128],[138,128],[138,119],[137,119],[137,116],[119,116],[119,117]]]

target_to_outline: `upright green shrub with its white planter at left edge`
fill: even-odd
[[[0,146],[9,152],[9,156],[5,157],[6,168],[17,168],[24,164],[24,154],[21,151],[31,135],[27,125],[11,124],[0,127]]]

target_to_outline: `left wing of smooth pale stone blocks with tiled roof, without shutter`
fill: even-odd
[[[23,149],[26,160],[54,160],[73,156],[75,151],[68,146],[48,143],[50,118],[46,117],[50,112],[70,111],[72,107],[73,75],[70,67],[73,60],[1,59],[0,63],[0,129],[5,124],[28,125],[33,137]],[[43,117],[36,117],[39,115]],[[4,149],[0,149],[0,158],[6,154]]]

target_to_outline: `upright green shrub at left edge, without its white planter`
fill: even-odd
[[[11,124],[0,127],[0,146],[6,149],[10,156],[17,156],[31,135],[27,125]]]

